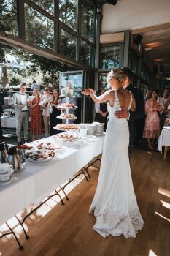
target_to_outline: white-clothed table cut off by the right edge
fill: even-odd
[[[161,135],[158,138],[158,150],[161,151],[161,153],[163,146],[165,146],[163,160],[166,160],[166,154],[170,146],[170,127],[163,127]]]

